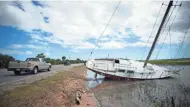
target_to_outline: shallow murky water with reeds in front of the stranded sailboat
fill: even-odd
[[[143,81],[106,80],[97,75],[97,80],[88,81],[88,86],[101,107],[190,107],[190,66],[172,78]],[[95,73],[87,72],[87,78]]]

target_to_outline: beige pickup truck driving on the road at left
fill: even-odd
[[[20,75],[22,71],[36,74],[39,70],[51,70],[51,64],[46,63],[43,58],[27,58],[26,61],[10,61],[8,71],[14,71]]]

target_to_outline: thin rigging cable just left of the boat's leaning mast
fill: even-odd
[[[146,47],[145,47],[145,49],[144,49],[144,51],[143,51],[143,54],[142,54],[142,56],[141,56],[141,58],[140,58],[141,60],[142,60],[142,58],[143,58],[143,56],[144,56],[144,53],[145,53],[145,51],[146,51],[146,48],[147,48],[147,46],[148,46],[148,42],[149,42],[149,40],[150,40],[150,38],[151,38],[151,36],[152,36],[153,30],[154,30],[154,28],[155,28],[156,22],[157,22],[157,20],[158,20],[159,15],[160,15],[160,11],[161,11],[161,9],[162,9],[162,6],[163,6],[163,3],[162,3],[162,5],[160,6],[160,9],[159,9],[157,18],[156,18],[156,20],[155,20],[155,22],[154,22],[152,31],[151,31],[150,36],[149,36],[149,38],[148,38],[148,41],[147,41],[147,43],[146,43]]]

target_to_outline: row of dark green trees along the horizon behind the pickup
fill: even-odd
[[[69,64],[85,63],[86,62],[85,60],[81,60],[79,58],[77,58],[76,60],[70,60],[70,59],[67,59],[65,56],[62,56],[61,59],[48,58],[45,56],[44,53],[37,54],[36,58],[44,58],[44,60],[47,63],[51,63],[52,65],[58,65],[58,64],[69,65]],[[13,56],[0,53],[0,68],[7,68],[9,61],[15,61],[15,58]]]

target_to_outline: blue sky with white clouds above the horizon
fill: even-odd
[[[19,60],[38,53],[84,60],[108,54],[110,58],[145,59],[168,1],[121,1],[101,36],[118,3],[0,1],[0,53]],[[180,3],[181,7],[172,6],[151,59],[190,57],[190,1],[174,1],[174,5]]]

